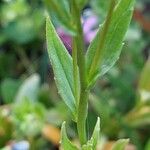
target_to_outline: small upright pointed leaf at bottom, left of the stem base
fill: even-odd
[[[61,146],[63,150],[78,150],[78,148],[73,145],[67,137],[65,122],[62,124],[61,128]]]

